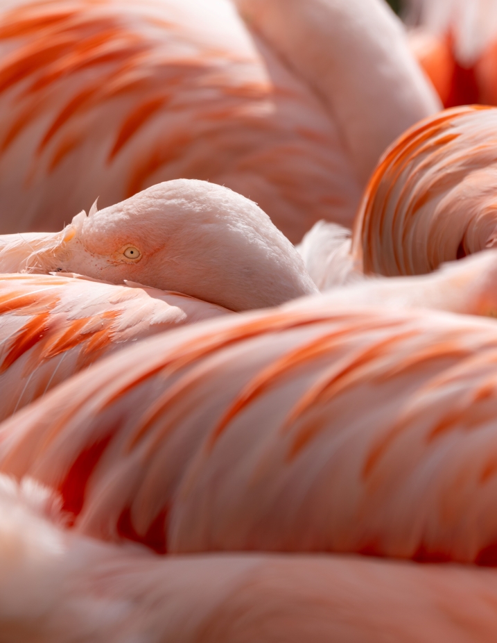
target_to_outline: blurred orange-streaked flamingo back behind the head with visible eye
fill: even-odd
[[[228,0],[9,0],[0,60],[2,233],[173,178],[232,187],[294,242],[354,216],[333,121]]]

